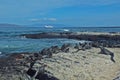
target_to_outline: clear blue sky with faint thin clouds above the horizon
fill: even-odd
[[[120,26],[120,0],[0,0],[0,23]]]

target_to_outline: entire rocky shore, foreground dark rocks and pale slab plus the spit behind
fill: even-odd
[[[60,34],[22,36],[59,38]],[[81,40],[80,33],[62,33],[64,38],[70,38],[73,34],[72,39]],[[120,35],[90,36],[87,33],[82,36],[83,40],[89,41],[90,38],[90,42],[66,43],[61,47],[45,48],[38,53],[13,53],[0,58],[0,80],[120,80]]]

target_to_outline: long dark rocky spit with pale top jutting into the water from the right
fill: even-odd
[[[67,38],[92,41],[93,46],[96,44],[104,47],[120,47],[120,33],[98,33],[98,32],[51,32],[39,34],[22,34],[25,38]]]

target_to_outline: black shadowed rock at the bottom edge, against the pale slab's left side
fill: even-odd
[[[30,79],[38,79],[38,80],[58,80],[54,76],[50,74],[50,72],[45,70],[46,65],[35,65],[32,68],[29,68],[26,72],[27,75],[30,76]]]

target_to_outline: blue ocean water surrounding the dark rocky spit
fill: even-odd
[[[39,52],[43,48],[53,45],[61,46],[64,43],[77,43],[73,39],[26,39],[19,35],[41,32],[120,32],[120,28],[79,28],[79,27],[0,27],[0,54],[15,52]]]

